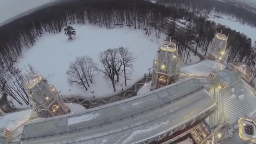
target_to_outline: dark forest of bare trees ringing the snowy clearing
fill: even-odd
[[[38,37],[46,32],[59,33],[69,24],[77,23],[93,24],[106,28],[144,29],[147,35],[160,37],[166,31],[164,30],[167,27],[166,17],[186,19],[196,24],[195,31],[186,35],[175,35],[174,32],[171,32],[173,28],[166,32],[179,43],[180,53],[186,48],[190,48],[189,45],[192,41],[197,42],[197,47],[204,47],[206,53],[207,46],[213,39],[216,30],[223,30],[224,34],[229,34],[227,61],[239,60],[245,61],[250,66],[255,65],[256,52],[252,48],[253,42],[250,38],[233,29],[220,24],[217,25],[213,21],[207,21],[203,17],[195,16],[193,12],[186,9],[173,6],[165,7],[145,0],[72,0],[51,5],[0,27],[0,72],[4,73],[0,77],[0,88],[14,99],[20,97],[24,103],[28,104],[27,93],[22,81],[24,76],[21,77],[21,70],[13,68],[13,66],[15,65],[14,62],[21,56],[22,51],[32,47]],[[122,52],[119,51],[118,53]],[[99,59],[108,59],[106,54],[101,53]],[[111,64],[111,61],[109,63]],[[102,62],[101,64],[104,65]],[[75,67],[73,67],[74,65]],[[123,74],[123,69],[125,69],[125,75],[132,71],[132,69],[126,69],[124,65],[132,66],[131,63],[122,61],[118,67],[109,70],[109,73],[106,74],[110,80],[113,80],[113,83],[115,80],[119,80],[118,77]],[[77,67],[79,67],[77,63],[70,64],[71,69],[77,69]],[[104,69],[101,71],[107,72]],[[85,77],[83,73],[79,73],[79,75]],[[92,83],[91,80],[93,78],[90,77],[83,80],[85,89]],[[113,85],[113,87],[115,91],[115,86]],[[20,100],[17,101],[22,103]]]

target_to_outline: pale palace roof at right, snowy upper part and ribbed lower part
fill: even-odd
[[[241,63],[238,63],[241,65]],[[243,115],[251,115],[256,109],[256,91],[232,70],[225,69],[224,64],[217,61],[201,61],[200,63],[181,68],[183,78],[195,77],[200,83],[204,83],[206,90],[215,99],[218,109],[213,113],[207,122],[210,127],[215,127],[228,120],[229,123],[236,122]],[[215,79],[210,80],[208,74],[216,72]],[[228,87],[219,89],[219,82],[223,80]]]

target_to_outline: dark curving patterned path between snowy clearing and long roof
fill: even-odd
[[[80,104],[86,109],[91,109],[93,107],[99,107],[104,104],[109,104],[115,101],[120,101],[123,99],[131,98],[133,96],[137,95],[137,92],[139,89],[145,84],[152,81],[152,75],[148,75],[141,80],[139,80],[137,83],[135,83],[131,88],[126,89],[125,91],[122,91],[116,95],[100,98],[100,99],[86,99],[86,98],[75,98],[75,97],[64,97],[63,101],[65,103],[75,103]]]

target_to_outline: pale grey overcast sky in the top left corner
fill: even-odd
[[[0,0],[0,23],[53,0]]]

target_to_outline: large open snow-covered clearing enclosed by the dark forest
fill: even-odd
[[[130,48],[137,58],[134,62],[133,76],[128,80],[128,86],[124,87],[125,89],[143,77],[144,73],[148,72],[148,68],[152,67],[156,51],[165,38],[163,35],[157,40],[154,36],[144,35],[142,30],[128,27],[106,29],[80,24],[72,27],[77,32],[74,40],[68,40],[64,32],[46,33],[32,48],[24,52],[23,58],[19,61],[19,67],[24,68],[27,64],[31,64],[43,77],[61,90],[62,95],[66,96],[93,98],[90,91],[94,91],[96,98],[113,94],[111,82],[104,80],[101,73],[96,75],[95,82],[88,91],[68,85],[66,71],[69,62],[74,61],[76,56],[88,55],[100,65],[98,55],[101,51],[120,46]],[[124,83],[122,77],[120,83]],[[121,91],[120,83],[116,85],[117,92]]]

